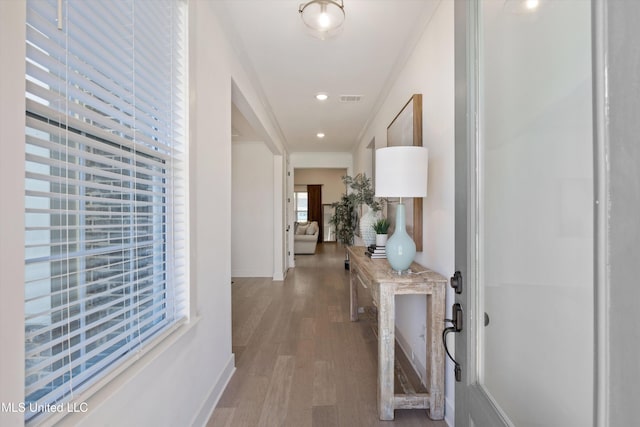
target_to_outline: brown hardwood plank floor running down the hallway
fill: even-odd
[[[424,410],[379,421],[372,321],[349,321],[344,248],[296,256],[284,282],[235,278],[236,372],[207,427],[446,427]]]

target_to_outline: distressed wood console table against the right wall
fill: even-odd
[[[429,418],[444,418],[444,330],[447,279],[415,262],[412,274],[398,275],[386,259],[365,256],[366,248],[348,248],[350,260],[351,321],[358,320],[358,283],[371,292],[378,307],[378,414],[393,420],[395,409],[428,409]],[[427,297],[427,393],[395,394],[395,296],[424,294]]]

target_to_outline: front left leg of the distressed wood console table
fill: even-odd
[[[381,420],[394,418],[395,296],[392,287],[380,287],[378,307],[378,412]]]

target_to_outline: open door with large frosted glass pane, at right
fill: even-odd
[[[465,9],[456,426],[593,425],[591,5]]]

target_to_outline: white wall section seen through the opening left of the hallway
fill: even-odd
[[[231,274],[273,274],[273,154],[261,142],[232,148]]]

